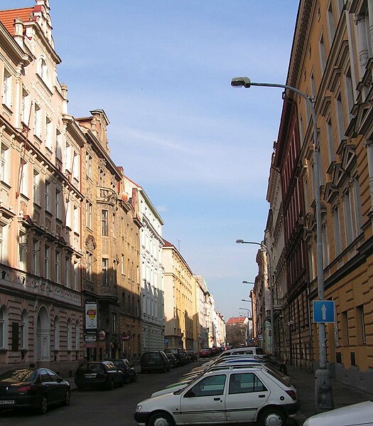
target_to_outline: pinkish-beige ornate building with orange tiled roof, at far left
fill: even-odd
[[[0,12],[0,369],[68,374],[82,359],[82,193],[71,163],[82,143],[65,128],[51,30],[48,1]]]

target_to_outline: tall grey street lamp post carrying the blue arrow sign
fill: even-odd
[[[318,299],[324,299],[324,268],[323,268],[323,240],[321,235],[321,196],[320,196],[320,147],[318,144],[318,128],[316,121],[316,112],[313,107],[313,103],[309,97],[289,85],[281,85],[278,83],[266,83],[266,82],[252,82],[247,77],[233,78],[231,81],[233,87],[245,87],[251,86],[260,87],[280,87],[285,90],[297,93],[299,96],[306,100],[306,105],[312,114],[313,121],[313,156],[315,161],[315,207],[316,207],[316,265],[318,272]],[[325,323],[320,322],[318,324],[318,346],[319,346],[319,357],[320,365],[317,371],[315,371],[315,408],[316,412],[325,410],[332,410],[334,408],[332,385],[330,380],[330,373],[326,368],[326,345],[325,345]]]

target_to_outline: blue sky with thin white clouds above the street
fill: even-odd
[[[235,240],[263,239],[282,100],[279,89],[230,81],[286,82],[298,0],[51,0],[50,9],[69,113],[105,110],[112,159],[144,188],[163,237],[205,277],[225,319],[239,316],[258,247]]]

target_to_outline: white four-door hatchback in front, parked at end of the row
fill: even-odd
[[[226,368],[205,373],[173,393],[141,401],[134,418],[141,426],[260,422],[284,426],[299,404],[296,389],[265,367]]]

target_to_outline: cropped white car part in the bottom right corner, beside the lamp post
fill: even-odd
[[[373,400],[346,405],[308,417],[303,426],[373,426]]]

